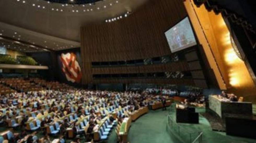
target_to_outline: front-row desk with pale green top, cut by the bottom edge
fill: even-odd
[[[119,133],[118,133],[120,142],[123,142],[123,143],[128,142],[128,132],[131,126],[131,121],[132,121],[132,118],[124,118],[123,122],[121,123]]]

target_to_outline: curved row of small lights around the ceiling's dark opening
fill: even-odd
[[[18,2],[22,2],[22,3],[26,3],[26,1],[25,0],[17,0]],[[49,2],[48,1],[48,3],[51,3],[51,2]],[[115,1],[115,3],[119,3],[119,1],[117,0],[117,1]],[[61,4],[62,6],[68,6],[68,4]],[[89,4],[90,6],[92,5],[91,3]],[[110,6],[112,6],[113,4],[112,3],[109,3],[109,5]],[[36,4],[32,4],[32,6],[34,6],[34,7],[37,7],[37,8],[42,8],[42,9],[46,9],[46,7],[45,6],[42,6],[42,5],[36,5]],[[85,5],[83,4],[82,5],[83,7],[85,7]],[[74,7],[74,5],[72,4],[72,7]],[[105,9],[105,8],[107,8],[107,5],[104,5],[103,7],[102,7],[103,9]],[[97,7],[97,10],[100,10],[101,8],[100,7]],[[63,12],[64,10],[63,9],[61,9],[61,8],[51,8],[51,10],[52,11],[60,11],[60,12]],[[93,9],[92,8],[87,8],[87,9],[83,9],[83,10],[81,10],[81,11],[83,11],[83,12],[86,12],[86,11],[93,11]],[[79,12],[79,10],[72,10],[71,12]]]

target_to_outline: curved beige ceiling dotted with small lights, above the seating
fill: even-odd
[[[80,26],[105,23],[105,19],[132,12],[146,1],[104,0],[95,5],[63,6],[43,0],[1,0],[0,34],[53,50],[79,47]]]

